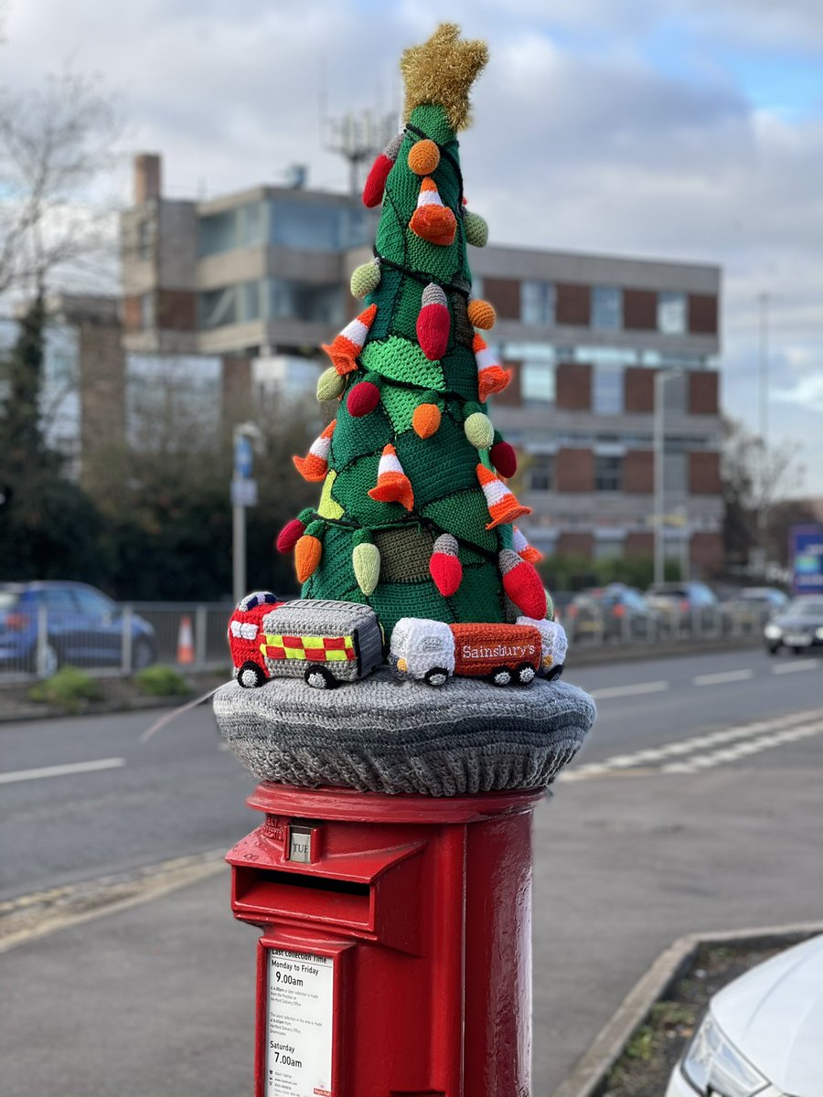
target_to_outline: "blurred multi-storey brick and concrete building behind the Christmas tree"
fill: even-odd
[[[379,211],[301,188],[170,200],[160,170],[157,156],[135,159],[122,217],[126,348],[222,355],[251,386],[313,387],[308,362],[358,307],[349,275],[371,257]],[[497,309],[489,342],[514,367],[492,414],[522,455],[530,540],[590,558],[652,555],[664,370],[666,555],[717,569],[720,270],[500,246],[470,262],[475,294]]]

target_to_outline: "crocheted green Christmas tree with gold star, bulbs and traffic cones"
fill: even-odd
[[[406,124],[363,192],[383,210],[372,262],[352,275],[365,307],[325,347],[318,398],[336,419],[295,465],[323,480],[316,510],[280,533],[304,598],[367,602],[386,634],[402,617],[514,621],[550,612],[540,558],[512,522],[528,508],[503,477],[512,448],[486,400],[509,373],[475,329],[494,308],[472,296],[466,244],[487,229],[465,207],[456,132],[486,61],[481,42],[441,25],[408,49]]]

